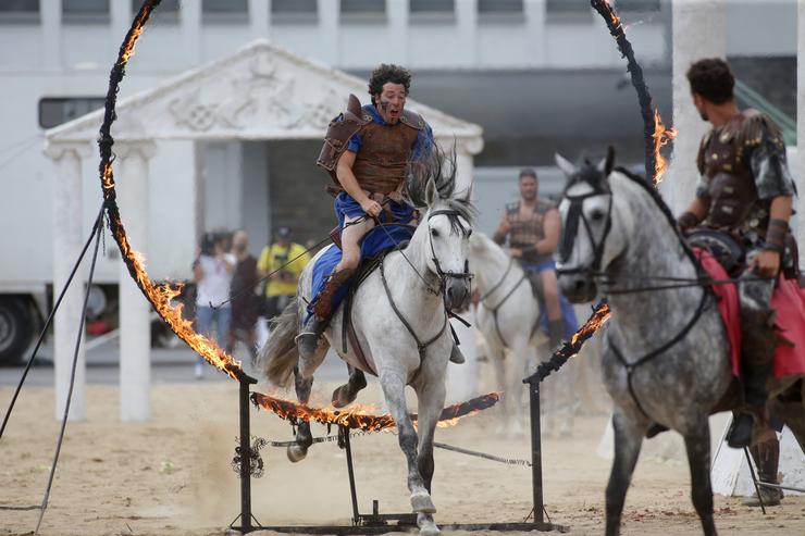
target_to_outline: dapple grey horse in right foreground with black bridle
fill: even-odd
[[[704,533],[715,535],[707,416],[732,382],[725,327],[704,286],[629,292],[652,278],[697,281],[698,273],[658,194],[640,177],[612,171],[612,157],[610,152],[597,166],[585,162],[579,167],[556,158],[568,176],[559,205],[560,289],[580,303],[595,298],[600,277],[608,282],[603,292],[611,319],[602,366],[615,402],[615,461],[606,489],[606,534],[620,532],[643,437],[657,423],[684,437],[693,504]],[[773,398],[770,404],[801,446],[803,384],[790,378],[790,389],[798,391],[794,401]]]

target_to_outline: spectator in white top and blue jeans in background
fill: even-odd
[[[235,257],[225,249],[223,235],[205,233],[201,237],[200,252],[193,263],[196,279],[196,332],[214,340],[218,346],[230,341],[230,285],[235,272]],[[215,324],[213,336],[212,324]],[[199,357],[196,363],[196,378],[203,376],[205,361]]]

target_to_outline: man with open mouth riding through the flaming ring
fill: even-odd
[[[406,110],[411,73],[381,64],[369,79],[371,104],[349,96],[347,110],[330,123],[319,161],[333,178],[340,228],[342,258],[308,307],[309,322],[297,336],[299,353],[315,351],[345,287],[361,260],[361,239],[377,224],[411,224],[416,211],[403,199],[409,165],[426,157],[433,132],[417,113]],[[335,298],[335,299],[334,299]],[[450,361],[462,363],[454,347]]]

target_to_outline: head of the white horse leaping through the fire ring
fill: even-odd
[[[424,263],[431,275],[438,278],[448,310],[469,304],[472,279],[468,249],[475,209],[469,189],[458,195],[455,190],[455,155],[447,158],[434,147],[412,166],[407,197],[414,207],[423,209],[412,244],[421,244]]]

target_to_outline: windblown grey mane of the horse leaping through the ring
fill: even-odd
[[[416,162],[408,166],[408,176],[404,196],[406,201],[417,209],[430,209],[428,202],[428,185],[433,182],[438,194],[438,200],[447,205],[448,209],[455,210],[458,215],[463,217],[472,225],[478,209],[470,200],[469,192],[466,198],[457,198],[456,195],[456,145],[449,153],[446,153],[436,144]],[[450,217],[450,225],[454,232],[462,230],[461,224],[456,217]]]

